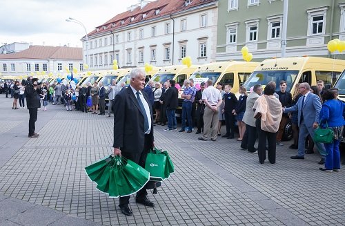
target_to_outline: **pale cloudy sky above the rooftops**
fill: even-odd
[[[0,0],[0,46],[13,42],[81,47],[82,26],[91,32],[139,0]]]

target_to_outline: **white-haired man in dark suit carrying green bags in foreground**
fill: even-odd
[[[141,92],[145,87],[145,72],[133,69],[130,72],[130,86],[115,97],[114,106],[114,155],[124,156],[145,167],[148,151],[154,147],[152,104],[148,95]],[[137,191],[136,202],[155,207],[148,200],[146,186]],[[130,196],[120,197],[119,207],[126,216],[131,216],[128,207]]]

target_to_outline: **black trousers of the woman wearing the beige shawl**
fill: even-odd
[[[255,122],[257,126],[257,136],[259,138],[259,145],[257,147],[257,154],[259,162],[263,164],[266,160],[266,140],[268,140],[268,160],[275,164],[275,149],[277,147],[276,138],[277,133],[270,133],[261,129],[261,120],[257,119]]]

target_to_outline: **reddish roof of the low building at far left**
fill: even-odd
[[[82,48],[67,46],[30,46],[18,53],[1,54],[0,59],[83,59]]]

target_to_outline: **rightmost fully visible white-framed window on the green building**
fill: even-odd
[[[317,10],[307,10],[308,13],[308,35],[324,35],[326,27],[327,7]]]

